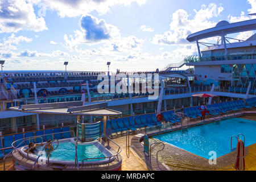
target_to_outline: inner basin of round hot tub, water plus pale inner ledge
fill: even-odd
[[[57,143],[53,142],[52,146],[55,148],[57,146]],[[22,152],[24,153],[24,155],[26,155],[26,153],[24,152],[26,148],[27,146],[22,148]],[[38,146],[37,148],[38,151],[42,151],[43,146]],[[73,164],[75,163],[75,154],[75,143],[72,141],[72,139],[59,140],[59,146],[55,151],[51,152],[49,161],[51,163]],[[38,155],[39,154],[29,154],[30,158],[32,159],[38,158]],[[97,141],[77,145],[77,158],[79,160],[79,163],[82,163],[83,159],[88,159],[85,160],[84,163],[105,163],[109,162],[108,157],[110,156],[112,156],[112,153]],[[40,156],[40,159],[47,160],[46,152],[42,152],[42,156]]]

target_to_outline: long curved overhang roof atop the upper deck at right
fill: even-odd
[[[237,32],[256,30],[256,19],[245,20],[242,22],[228,23],[206,30],[202,30],[191,34],[187,37],[189,42],[194,42],[200,39],[211,38],[213,36],[220,36],[222,34],[234,34]]]

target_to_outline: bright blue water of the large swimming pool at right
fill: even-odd
[[[238,134],[245,135],[245,146],[256,143],[256,121],[242,118],[225,119],[182,131],[157,135],[154,138],[209,159],[210,151],[216,151],[217,158],[232,152],[230,139]],[[240,138],[243,139],[243,137]],[[236,144],[237,141],[233,138],[232,148],[235,148]]]

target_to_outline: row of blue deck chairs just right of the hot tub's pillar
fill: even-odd
[[[112,129],[115,135],[124,134],[127,130],[137,132],[147,127],[160,126],[162,123],[158,122],[155,114],[135,115],[134,117],[124,117],[117,119],[110,119],[106,122],[106,128]],[[103,122],[101,122],[101,133],[103,132]]]

